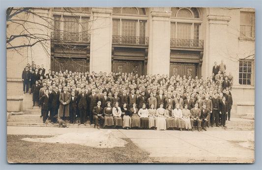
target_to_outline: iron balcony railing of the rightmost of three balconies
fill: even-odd
[[[204,40],[194,40],[194,39],[170,39],[171,47],[188,47],[188,48],[204,48]]]

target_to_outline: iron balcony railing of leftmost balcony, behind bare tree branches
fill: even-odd
[[[90,43],[90,34],[86,33],[71,33],[71,32],[52,32],[52,40],[71,41],[71,42],[85,42]]]

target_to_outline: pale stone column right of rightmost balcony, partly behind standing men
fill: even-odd
[[[225,14],[227,13],[219,10],[219,8],[207,9],[206,40],[204,42],[205,54],[202,65],[202,75],[204,77],[212,74],[212,67],[215,61],[218,65],[222,59],[226,63],[228,53],[228,24],[231,16]]]

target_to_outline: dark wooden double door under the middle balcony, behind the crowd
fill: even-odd
[[[112,72],[143,75],[143,64],[143,61],[114,60],[112,65]]]

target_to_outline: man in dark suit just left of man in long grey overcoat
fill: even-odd
[[[50,111],[50,120],[51,123],[55,123],[54,116],[58,114],[58,108],[59,108],[59,93],[58,93],[58,87],[55,88],[55,91],[51,93],[50,95],[51,100],[51,111]]]

